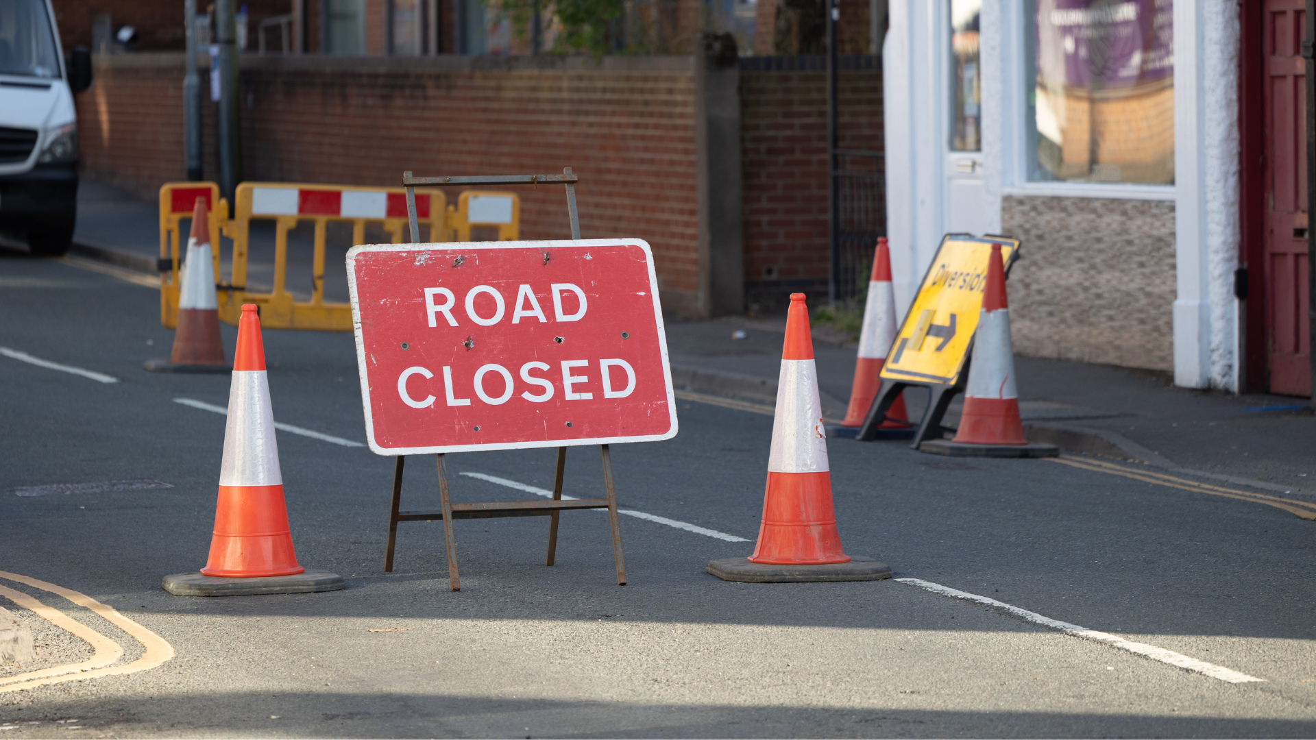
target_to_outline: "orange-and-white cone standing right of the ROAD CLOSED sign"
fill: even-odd
[[[758,544],[750,557],[712,561],[705,570],[726,581],[890,578],[884,564],[842,552],[829,470],[809,313],[797,292],[786,320]]]

